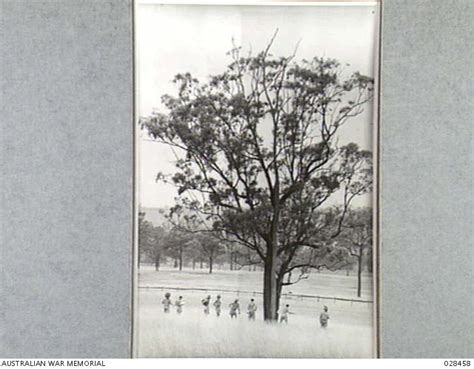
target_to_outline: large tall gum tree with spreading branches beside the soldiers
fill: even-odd
[[[333,59],[274,57],[272,43],[256,56],[234,48],[208,83],[176,75],[177,96],[162,98],[166,111],[140,119],[150,137],[178,151],[176,173],[158,178],[178,187],[180,206],[260,258],[265,320],[277,318],[285,276],[312,266],[294,264],[300,251],[323,245],[315,229],[289,225],[299,206],[299,219],[311,220],[343,193],[342,224],[352,199],[371,187],[371,154],[339,147],[337,133],[372,98],[372,78],[344,77]]]

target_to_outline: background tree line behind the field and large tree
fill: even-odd
[[[262,271],[263,263],[258,255],[236,242],[223,242],[212,235],[191,233],[168,223],[157,226],[146,220],[146,213],[139,213],[139,264],[152,264],[156,271],[167,265],[176,270],[220,269],[230,271]],[[326,245],[325,257],[320,259],[318,270],[355,271],[357,296],[361,296],[362,272],[372,272],[372,211],[370,208],[351,210],[343,231]],[[337,252],[336,252],[337,250]],[[312,249],[302,250],[300,258],[314,257]],[[297,269],[297,268],[295,268]],[[285,285],[291,285],[310,275],[310,268],[301,267],[299,272],[287,274]]]

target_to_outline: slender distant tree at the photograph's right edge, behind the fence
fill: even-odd
[[[357,266],[357,296],[362,292],[362,266],[364,256],[372,261],[372,209],[361,208],[351,210],[344,222],[340,234],[340,242],[350,256],[355,258]]]

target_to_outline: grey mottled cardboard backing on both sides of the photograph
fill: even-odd
[[[130,0],[0,1],[0,357],[129,357]],[[469,0],[386,0],[383,357],[474,357]]]

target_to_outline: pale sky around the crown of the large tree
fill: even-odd
[[[295,60],[324,56],[337,59],[347,73],[374,76],[377,14],[375,6],[231,6],[138,5],[138,115],[161,109],[163,94],[176,94],[177,73],[201,81],[229,64],[226,52],[236,45],[262,50],[278,28],[275,56],[288,56],[300,41]],[[339,143],[372,149],[372,107],[341,128]],[[171,206],[176,189],[156,183],[158,172],[172,173],[175,157],[162,144],[139,139],[139,199],[143,207]],[[357,205],[370,203],[361,197]]]

